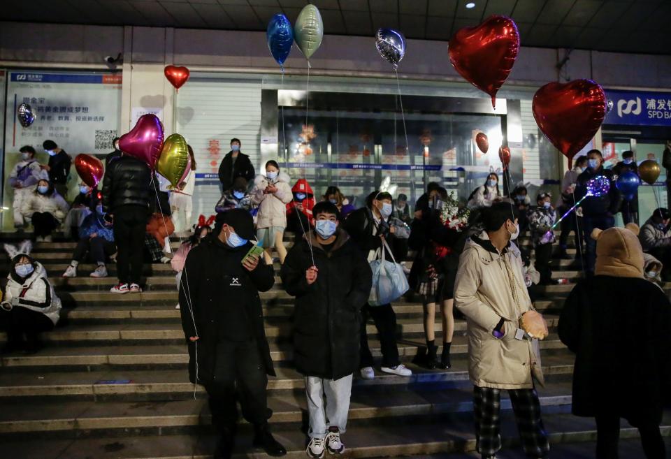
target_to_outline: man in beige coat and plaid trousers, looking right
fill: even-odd
[[[547,336],[547,325],[533,309],[521,254],[512,242],[519,234],[517,212],[509,203],[484,210],[484,231],[466,242],[454,287],[454,305],[466,316],[476,445],[483,459],[496,458],[501,449],[504,389],[526,456],[549,454],[534,382],[544,383],[537,339]]]

